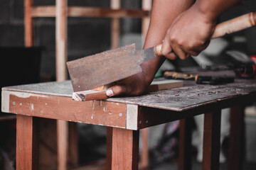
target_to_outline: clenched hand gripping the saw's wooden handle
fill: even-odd
[[[208,47],[215,30],[215,18],[198,10],[196,4],[181,13],[167,30],[161,49],[162,55],[174,60],[196,56]]]

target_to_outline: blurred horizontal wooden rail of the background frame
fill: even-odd
[[[55,17],[55,6],[34,6],[31,8],[32,17]],[[69,17],[107,17],[107,18],[142,18],[149,16],[149,11],[140,9],[110,9],[97,7],[68,7]]]

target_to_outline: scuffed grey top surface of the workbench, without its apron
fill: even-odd
[[[9,86],[2,88],[2,90],[70,98],[72,98],[73,93],[70,81]],[[207,103],[215,103],[236,96],[245,96],[255,91],[256,80],[235,79],[234,83],[223,85],[195,84],[193,81],[184,81],[184,86],[180,88],[150,92],[142,96],[113,97],[105,101],[162,108],[170,111],[186,111]]]

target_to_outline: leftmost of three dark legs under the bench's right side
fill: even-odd
[[[180,120],[178,138],[178,170],[191,169],[191,118]]]

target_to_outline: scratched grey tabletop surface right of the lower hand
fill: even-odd
[[[235,80],[233,84],[213,86],[184,81],[184,86],[177,89],[155,91],[143,96],[126,98],[109,98],[107,101],[137,104],[151,108],[162,108],[170,111],[186,111],[209,103],[228,101],[227,99],[255,94],[255,80]]]

